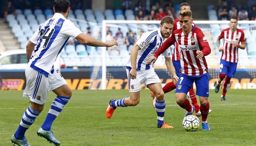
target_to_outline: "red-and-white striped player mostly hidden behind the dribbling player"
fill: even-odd
[[[180,4],[180,10],[185,10],[185,9],[190,10],[191,9],[190,4],[181,3]],[[192,22],[192,25],[195,26],[195,24],[193,22]],[[180,19],[176,19],[174,21],[173,31],[175,31],[177,29],[180,29],[180,28],[181,28]],[[173,66],[175,68],[175,73],[179,77],[180,76],[180,69],[181,69],[181,66],[180,66],[180,49],[178,48],[177,42],[175,42],[174,46],[175,46],[175,48],[173,50],[172,62],[173,62]],[[174,83],[174,81],[171,81],[171,82],[165,84],[165,86],[163,87],[163,91],[164,91],[164,93],[168,93],[168,92],[174,90],[175,88],[176,88],[176,84]],[[187,93],[187,96],[188,96],[188,98],[190,98],[192,105],[196,108],[196,111],[195,111],[196,115],[198,117],[200,117],[201,116],[200,107],[197,103],[196,94],[194,92],[193,86],[190,88],[189,92]],[[154,96],[154,93],[152,93],[152,92],[151,92],[151,97],[153,98],[153,106],[154,106],[155,96]]]

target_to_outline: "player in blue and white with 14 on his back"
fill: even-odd
[[[49,91],[53,91],[57,97],[52,102],[45,122],[37,131],[37,135],[55,145],[60,145],[51,131],[51,126],[70,100],[72,91],[59,71],[54,68],[53,63],[69,37],[91,46],[118,45],[115,40],[102,42],[85,35],[75,24],[66,19],[70,11],[69,0],[55,0],[53,10],[55,11],[53,17],[39,26],[27,44],[29,62],[25,70],[27,83],[23,96],[30,98],[31,105],[24,112],[22,121],[11,138],[12,143],[20,146],[29,145],[24,136],[25,132],[43,110]],[[35,46],[36,49],[34,49]]]

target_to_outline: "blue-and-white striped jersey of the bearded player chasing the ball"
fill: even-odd
[[[160,29],[156,29],[153,31],[144,32],[141,35],[141,38],[136,42],[138,46],[140,46],[140,50],[138,51],[137,55],[137,70],[148,70],[151,65],[147,64],[148,59],[150,59],[154,53],[160,48],[160,46],[164,43],[166,38],[163,38],[160,32]],[[165,57],[171,57],[171,50],[168,48],[162,54]],[[131,58],[129,58],[127,64],[127,69],[131,69]]]

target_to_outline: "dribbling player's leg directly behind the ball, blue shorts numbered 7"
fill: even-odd
[[[186,117],[187,115],[191,115],[195,110],[195,107],[190,105],[190,102],[187,99],[187,93],[190,90],[193,83],[194,80],[191,79],[191,77],[185,74],[180,74],[180,78],[178,79],[177,87],[175,90],[175,95],[177,104],[187,111],[184,117]]]

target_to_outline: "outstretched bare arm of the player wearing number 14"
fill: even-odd
[[[81,42],[82,44],[89,45],[89,46],[106,46],[106,47],[111,47],[111,46],[118,46],[118,42],[116,42],[114,39],[111,41],[107,42],[102,42],[99,41],[98,39],[95,39],[89,35],[86,34],[79,34],[76,39]]]

